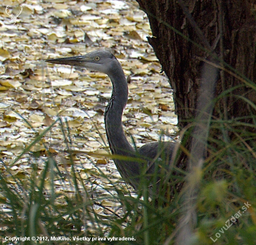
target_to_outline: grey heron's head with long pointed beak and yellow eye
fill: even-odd
[[[113,63],[118,62],[111,52],[105,50],[93,51],[83,56],[47,59],[45,61],[52,64],[67,64],[87,68],[93,71],[103,72],[107,75],[111,72]]]

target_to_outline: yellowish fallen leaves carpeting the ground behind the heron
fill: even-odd
[[[23,7],[15,24],[5,12],[7,5],[13,14]],[[163,133],[170,140],[177,131],[172,90],[148,45],[147,36],[152,33],[146,14],[135,2],[120,0],[75,4],[27,0],[20,6],[3,0],[0,11],[0,169],[7,177],[5,170],[10,167],[14,176],[23,174],[29,179],[33,164],[38,165],[40,174],[48,148],[56,162],[62,162],[58,167],[67,175],[73,161],[88,185],[96,181],[103,187],[112,186],[101,178],[102,172],[115,185],[125,187],[113,161],[101,157],[109,154],[103,116],[112,91],[109,78],[98,72],[45,64],[43,60],[112,50],[129,79],[128,105],[122,118],[127,137],[133,135],[138,147],[159,140]],[[66,128],[69,149],[95,155],[78,153],[70,161],[61,125],[56,123],[11,166],[58,117]],[[74,192],[68,179],[54,184],[57,192]]]

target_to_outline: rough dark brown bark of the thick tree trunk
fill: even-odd
[[[206,48],[181,7],[181,3],[185,1],[137,0],[137,2],[148,15],[153,33],[148,41],[162,64],[162,70],[169,78],[178,125],[184,128],[191,119],[195,118],[202,58],[209,58],[209,53],[173,30],[175,28]],[[196,25],[218,57],[251,81],[256,77],[255,5],[256,0],[188,0],[185,3]],[[215,96],[240,84],[243,84],[241,80],[222,71],[216,84]],[[241,95],[256,102],[255,90],[249,86],[242,86],[235,89],[229,97],[216,103],[213,113],[215,118],[230,119],[252,114],[248,103],[232,95]]]

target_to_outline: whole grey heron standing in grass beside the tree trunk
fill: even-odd
[[[114,158],[115,165],[124,181],[135,190],[139,189],[143,171],[149,175],[155,171],[155,160],[162,157],[168,162],[171,160],[175,147],[173,142],[153,142],[138,149],[133,148],[128,142],[121,123],[122,113],[128,101],[128,83],[121,64],[112,53],[100,50],[84,56],[48,59],[46,62],[87,68],[108,75],[113,87],[112,96],[104,114],[108,144],[113,155],[123,156]],[[135,158],[145,161],[136,161]]]

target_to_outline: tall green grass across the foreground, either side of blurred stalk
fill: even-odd
[[[248,117],[256,120],[253,114]],[[249,130],[255,129],[255,124],[243,122],[248,117],[211,121],[216,135],[209,136],[211,154],[198,173],[201,181],[196,202],[195,244],[255,244],[256,134]],[[66,144],[66,152],[62,156],[67,162],[47,148],[45,156],[31,152],[31,147],[43,141],[57,123],[62,128]],[[19,165],[21,157],[26,155],[27,162],[31,164],[29,174],[15,175],[10,167],[12,165],[1,162],[5,168],[0,172],[1,244],[10,243],[5,237],[25,236],[48,239],[37,241],[37,244],[174,244],[183,192],[175,187],[184,181],[184,170],[174,164],[170,180],[163,186],[163,189],[171,190],[171,196],[160,192],[157,200],[154,197],[151,200],[148,198],[146,178],[141,183],[141,192],[133,193],[120,181],[112,182],[112,176],[106,176],[96,165],[94,169],[84,169],[82,162],[77,164],[74,152],[70,150],[66,123],[59,119],[53,125],[13,160],[13,164]],[[61,171],[60,166],[64,166],[66,171]],[[98,182],[91,176],[103,181]],[[244,210],[244,203],[251,206]],[[241,216],[234,223],[228,221],[238,211]],[[51,237],[71,240],[51,241]],[[90,242],[73,241],[73,237],[90,238]],[[113,237],[134,240],[108,240]],[[36,242],[21,241],[16,244]]]

